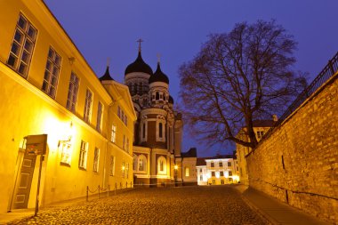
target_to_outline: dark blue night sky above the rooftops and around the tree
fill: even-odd
[[[107,58],[110,74],[123,82],[125,67],[142,57],[153,70],[157,53],[170,78],[170,92],[178,101],[180,65],[191,60],[211,33],[228,32],[237,22],[277,20],[298,42],[295,70],[310,73],[310,81],[338,50],[336,0],[44,0],[68,32],[97,76]],[[187,128],[187,127],[186,127]],[[233,149],[206,149],[188,132],[182,151],[197,147],[198,157]]]

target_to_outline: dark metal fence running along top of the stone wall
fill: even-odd
[[[302,91],[298,97],[294,100],[294,102],[286,109],[284,114],[278,119],[278,122],[273,125],[270,130],[264,135],[263,139],[268,138],[271,133],[281,125],[287,117],[289,117],[297,108],[299,108],[302,103],[307,100],[312,93],[316,92],[318,87],[322,84],[325,84],[326,81],[334,76],[334,74],[338,71],[338,52],[334,55],[334,58],[328,60],[328,63],[325,68],[319,73],[319,75],[312,81],[312,83]]]

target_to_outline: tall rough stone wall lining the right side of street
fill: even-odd
[[[338,224],[338,74],[246,157],[250,186]]]

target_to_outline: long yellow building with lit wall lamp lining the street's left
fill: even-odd
[[[1,1],[0,11],[0,213],[34,207],[38,180],[40,205],[84,197],[87,186],[130,187],[128,87],[95,76],[43,1]],[[39,134],[44,157],[31,142]]]

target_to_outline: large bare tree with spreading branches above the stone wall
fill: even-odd
[[[294,37],[274,20],[243,22],[229,33],[210,35],[180,68],[181,99],[193,133],[254,148],[254,119],[283,111],[304,83],[292,68],[295,49]],[[237,137],[242,127],[249,141]]]

